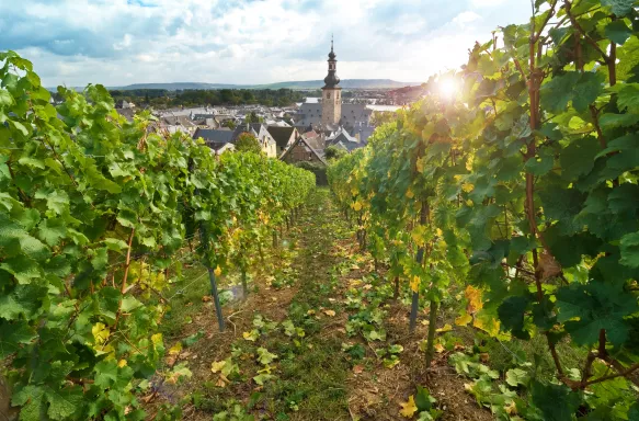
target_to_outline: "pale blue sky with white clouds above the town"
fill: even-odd
[[[0,0],[0,50],[43,84],[422,82],[476,41],[530,16],[529,0]]]

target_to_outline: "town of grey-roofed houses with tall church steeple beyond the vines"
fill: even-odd
[[[199,104],[157,110],[151,107],[158,118],[152,129],[187,133],[194,139],[204,139],[218,155],[236,150],[238,139],[248,134],[258,140],[262,152],[270,158],[278,158],[288,163],[309,162],[309,169],[324,167],[327,149],[333,147],[333,150],[336,149],[334,153],[339,155],[340,150],[350,152],[365,147],[368,137],[384,121],[385,115],[395,113],[402,105],[410,104],[424,94],[420,86],[396,90],[354,89],[342,94],[340,78],[336,76],[336,61],[331,42],[329,72],[321,91],[305,90],[287,96],[301,98],[303,102],[284,106],[233,105],[231,102],[225,105]],[[228,91],[222,90],[221,96],[232,95]],[[123,95],[126,92],[115,91],[112,95]],[[148,91],[142,90],[141,93],[146,94],[145,100],[148,103]],[[310,96],[318,93],[321,96]],[[133,120],[138,111],[136,103],[126,99],[118,100],[116,109],[128,120]]]

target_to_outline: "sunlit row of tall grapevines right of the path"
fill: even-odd
[[[632,1],[536,1],[329,171],[383,240],[369,250],[426,296],[431,330],[455,281],[482,296],[460,323],[545,338],[557,383],[532,386],[545,419],[571,419],[600,384],[638,384],[637,19]],[[459,92],[440,93],[443,79]]]

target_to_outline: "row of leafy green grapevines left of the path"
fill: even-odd
[[[222,272],[261,247],[310,172],[126,122],[102,86],[58,88],[0,53],[0,360],[21,420],[142,420],[181,250]],[[242,232],[251,232],[244,236]],[[153,299],[151,299],[153,297]],[[220,315],[219,312],[218,315]]]

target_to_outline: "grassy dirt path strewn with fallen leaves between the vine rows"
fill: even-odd
[[[255,262],[247,299],[225,306],[225,332],[202,298],[206,278],[184,282],[190,287],[182,286],[163,323],[171,350],[142,396],[151,417],[406,420],[400,405],[422,385],[437,398],[441,419],[491,419],[444,356],[426,382],[420,351],[426,327],[408,334],[408,306],[392,299],[390,284],[358,253],[327,191],[311,197],[279,246]],[[201,273],[193,269],[189,277]],[[192,376],[174,382],[182,367]]]

